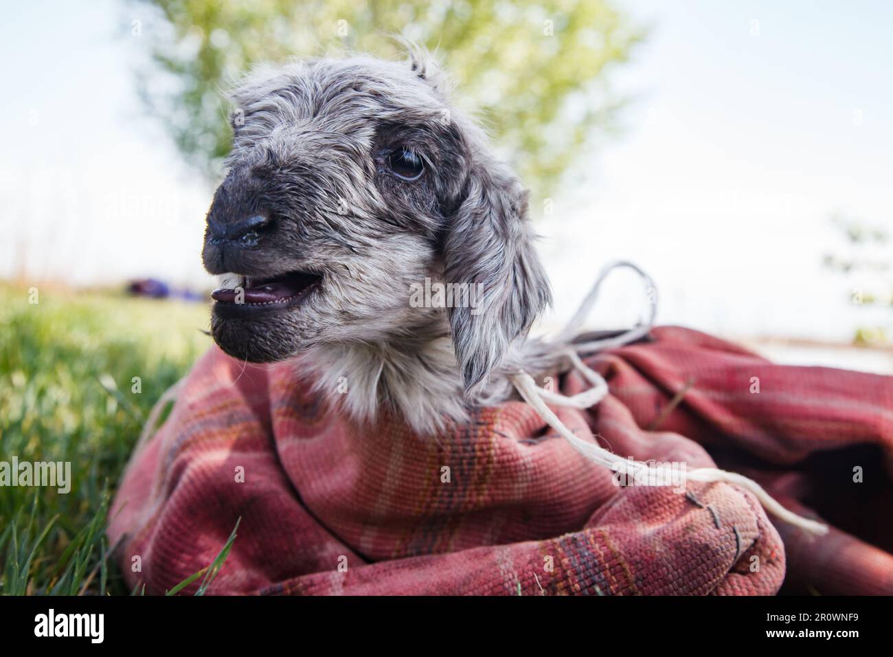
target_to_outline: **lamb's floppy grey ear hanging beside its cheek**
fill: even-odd
[[[447,283],[470,283],[476,307],[449,307],[455,356],[466,395],[480,390],[551,303],[551,292],[531,243],[527,190],[504,165],[476,154],[463,200],[444,240]],[[475,297],[476,294],[476,297]]]

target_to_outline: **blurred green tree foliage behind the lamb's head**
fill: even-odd
[[[346,51],[405,55],[427,47],[470,109],[542,196],[611,127],[619,105],[605,80],[640,38],[607,0],[144,0],[143,36],[171,74],[144,97],[182,153],[213,179],[230,149],[223,90],[253,63]]]

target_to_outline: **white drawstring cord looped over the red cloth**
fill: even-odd
[[[644,324],[638,324],[629,331],[613,338],[602,340],[581,342],[571,344],[573,336],[580,330],[580,326],[586,320],[589,310],[595,304],[598,297],[599,288],[604,282],[608,274],[619,267],[630,267],[635,270],[646,282],[649,300],[651,301],[650,313]],[[598,274],[592,290],[589,291],[586,299],[580,305],[577,314],[573,316],[571,322],[559,334],[558,341],[564,343],[566,349],[563,353],[571,359],[572,365],[580,371],[588,383],[592,387],[586,391],[579,392],[572,397],[565,397],[555,392],[549,392],[544,388],[540,388],[533,378],[524,371],[511,376],[512,383],[521,395],[522,399],[530,404],[537,411],[539,417],[542,417],[547,425],[551,426],[558,432],[572,447],[579,451],[587,459],[597,463],[600,466],[607,467],[614,472],[622,473],[626,476],[636,477],[636,480],[644,480],[657,485],[672,485],[672,473],[662,468],[650,467],[647,463],[641,461],[633,461],[631,459],[621,459],[611,451],[605,450],[594,442],[587,442],[578,438],[573,432],[563,424],[563,422],[555,415],[552,409],[549,409],[547,402],[553,406],[568,406],[574,409],[588,409],[595,406],[599,401],[605,398],[608,393],[608,385],[605,379],[599,375],[591,367],[587,366],[580,358],[580,353],[592,353],[599,350],[613,349],[637,341],[639,338],[647,335],[655,322],[657,300],[656,288],[651,278],[645,274],[638,266],[629,262],[619,261],[605,266]],[[775,501],[769,493],[766,493],[763,486],[757,484],[754,480],[748,479],[746,476],[739,475],[734,472],[727,472],[716,467],[698,467],[691,470],[686,475],[692,481],[699,482],[729,482],[737,484],[742,488],[746,488],[754,493],[756,499],[763,504],[768,512],[772,513],[776,518],[780,518],[791,525],[801,527],[812,534],[825,534],[828,532],[828,526],[823,525],[815,520],[803,518],[796,513],[785,509],[778,501]],[[644,477],[639,479],[638,477]]]

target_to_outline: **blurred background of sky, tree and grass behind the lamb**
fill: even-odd
[[[530,187],[555,287],[540,331],[623,258],[654,277],[663,324],[891,374],[891,24],[882,0],[7,4],[0,448],[71,460],[78,481],[0,489],[0,593],[121,593],[104,505],[154,401],[211,344],[204,215],[223,91],[252,63],[399,57],[395,36],[437,54]],[[616,274],[590,324],[644,305]]]

